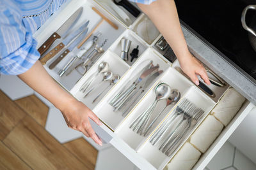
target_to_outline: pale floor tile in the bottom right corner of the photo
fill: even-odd
[[[239,150],[236,150],[234,166],[237,169],[243,170],[255,170],[256,165],[252,162],[252,160],[248,159],[243,153]]]

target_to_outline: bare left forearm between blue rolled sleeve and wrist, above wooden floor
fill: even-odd
[[[74,97],[61,89],[39,61],[36,61],[28,71],[20,74],[19,78],[60,110],[63,110],[63,106],[66,104],[74,101]]]

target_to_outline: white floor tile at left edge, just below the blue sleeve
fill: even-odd
[[[0,76],[0,89],[12,100],[29,96],[34,92],[33,89],[21,81],[17,76],[3,74]]]

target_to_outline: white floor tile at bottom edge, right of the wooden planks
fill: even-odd
[[[133,170],[134,164],[111,147],[98,153],[95,170]]]

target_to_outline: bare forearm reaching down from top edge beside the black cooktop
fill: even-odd
[[[188,46],[180,27],[175,2],[173,0],[157,0],[150,5],[138,4],[138,6],[163,34],[177,58],[180,60],[182,57],[187,57]]]

